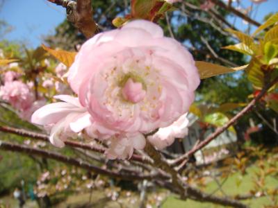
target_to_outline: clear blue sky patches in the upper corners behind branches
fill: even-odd
[[[250,0],[240,1],[244,7],[251,5]],[[278,12],[278,0],[259,4],[254,19],[261,22],[268,12]],[[0,19],[6,20],[14,28],[6,39],[35,47],[41,44],[42,35],[54,33],[55,26],[65,19],[65,10],[47,0],[6,0],[0,10]],[[236,26],[246,28],[240,19],[236,20]]]

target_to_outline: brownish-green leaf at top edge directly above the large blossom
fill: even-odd
[[[155,4],[156,0],[131,0],[131,16],[133,18],[147,19]]]

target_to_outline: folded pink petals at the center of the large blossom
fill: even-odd
[[[122,87],[122,96],[126,101],[131,103],[139,103],[145,98],[146,91],[141,82],[136,82],[132,78],[128,78]]]

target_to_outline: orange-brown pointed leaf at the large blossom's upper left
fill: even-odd
[[[53,55],[55,58],[57,58],[60,62],[65,64],[67,67],[70,67],[74,62],[76,52],[54,50],[54,49],[50,49],[47,46],[44,46],[44,44],[42,44],[42,48],[48,53],[50,53],[51,55]]]

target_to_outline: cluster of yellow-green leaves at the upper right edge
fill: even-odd
[[[259,33],[259,31],[272,26],[272,24],[275,24],[278,21],[277,17],[278,13],[272,15],[272,17],[265,21],[265,24],[255,31],[254,35]],[[258,41],[255,41],[253,37],[238,31],[229,30],[229,32],[238,37],[240,45],[236,44],[224,48],[252,56],[250,64],[247,67],[247,77],[256,89],[262,89],[266,80],[269,82],[276,76],[273,69],[277,68],[277,63],[272,60],[277,58],[278,55],[278,27],[274,26],[270,28],[270,30],[265,33],[265,37],[259,38]]]

